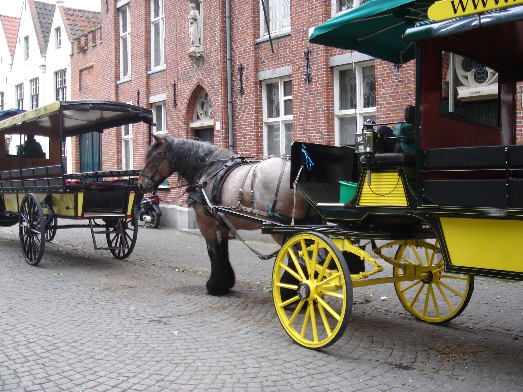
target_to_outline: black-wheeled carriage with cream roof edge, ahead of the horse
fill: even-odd
[[[66,137],[95,135],[87,146],[92,157],[101,153],[104,129],[136,122],[152,124],[152,112],[95,100],[54,102],[0,121],[0,225],[18,224],[22,253],[31,266],[63,228],[89,227],[96,250],[109,250],[119,259],[131,254],[138,235],[140,170],[67,174],[62,159]],[[89,223],[59,226],[58,218]],[[107,247],[97,245],[97,234]]]

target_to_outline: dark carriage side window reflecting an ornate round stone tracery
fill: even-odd
[[[456,53],[441,59],[441,114],[499,127],[498,73]]]

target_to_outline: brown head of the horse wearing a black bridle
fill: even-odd
[[[165,159],[165,140],[153,135],[154,141],[145,154],[143,169],[138,177],[138,186],[143,193],[153,192],[173,174]]]

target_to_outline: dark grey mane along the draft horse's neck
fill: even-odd
[[[168,135],[162,136],[162,139],[165,141],[165,159],[170,167],[190,183],[196,180],[202,165],[207,164],[205,172],[215,172],[227,160],[237,156],[228,149],[208,142],[177,139]]]

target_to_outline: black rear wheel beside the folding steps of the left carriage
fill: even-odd
[[[118,248],[110,249],[112,256],[117,259],[129,257],[138,238],[138,209],[133,209],[130,218],[108,220],[106,229],[107,245],[110,248]]]

